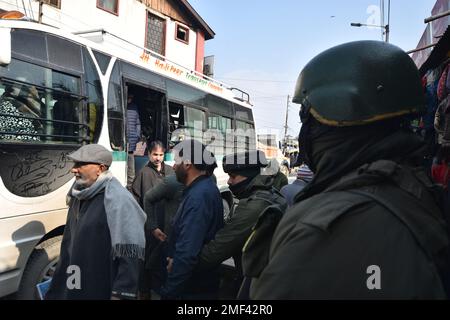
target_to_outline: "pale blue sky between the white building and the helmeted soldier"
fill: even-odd
[[[389,42],[415,49],[436,0],[391,0]],[[257,133],[284,134],[288,95],[314,56],[356,40],[382,40],[381,0],[189,0],[216,33],[206,41],[214,78],[250,94]],[[385,23],[387,23],[385,1]],[[300,129],[299,107],[289,103],[288,134]]]

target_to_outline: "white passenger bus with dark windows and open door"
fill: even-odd
[[[140,105],[146,138],[166,146],[180,130],[192,132],[194,122],[202,132],[254,128],[244,92],[236,98],[236,90],[123,40],[86,38],[94,34],[114,38],[0,20],[0,297],[36,298],[36,284],[52,275],[73,183],[70,152],[102,144],[126,184],[128,91]],[[227,147],[215,148],[218,159],[255,148],[254,135],[237,132],[226,136]],[[231,204],[221,170],[218,185]]]

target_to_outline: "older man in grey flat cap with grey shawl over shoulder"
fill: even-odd
[[[144,259],[145,213],[108,170],[97,144],[68,156],[75,183],[58,266],[45,299],[133,299]]]

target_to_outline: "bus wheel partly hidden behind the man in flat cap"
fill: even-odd
[[[45,240],[36,246],[28,259],[20,281],[17,299],[36,300],[39,295],[36,285],[53,276],[61,249],[62,236]]]

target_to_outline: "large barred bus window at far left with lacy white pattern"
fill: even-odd
[[[0,142],[86,139],[79,77],[17,59],[0,67],[0,75]]]

